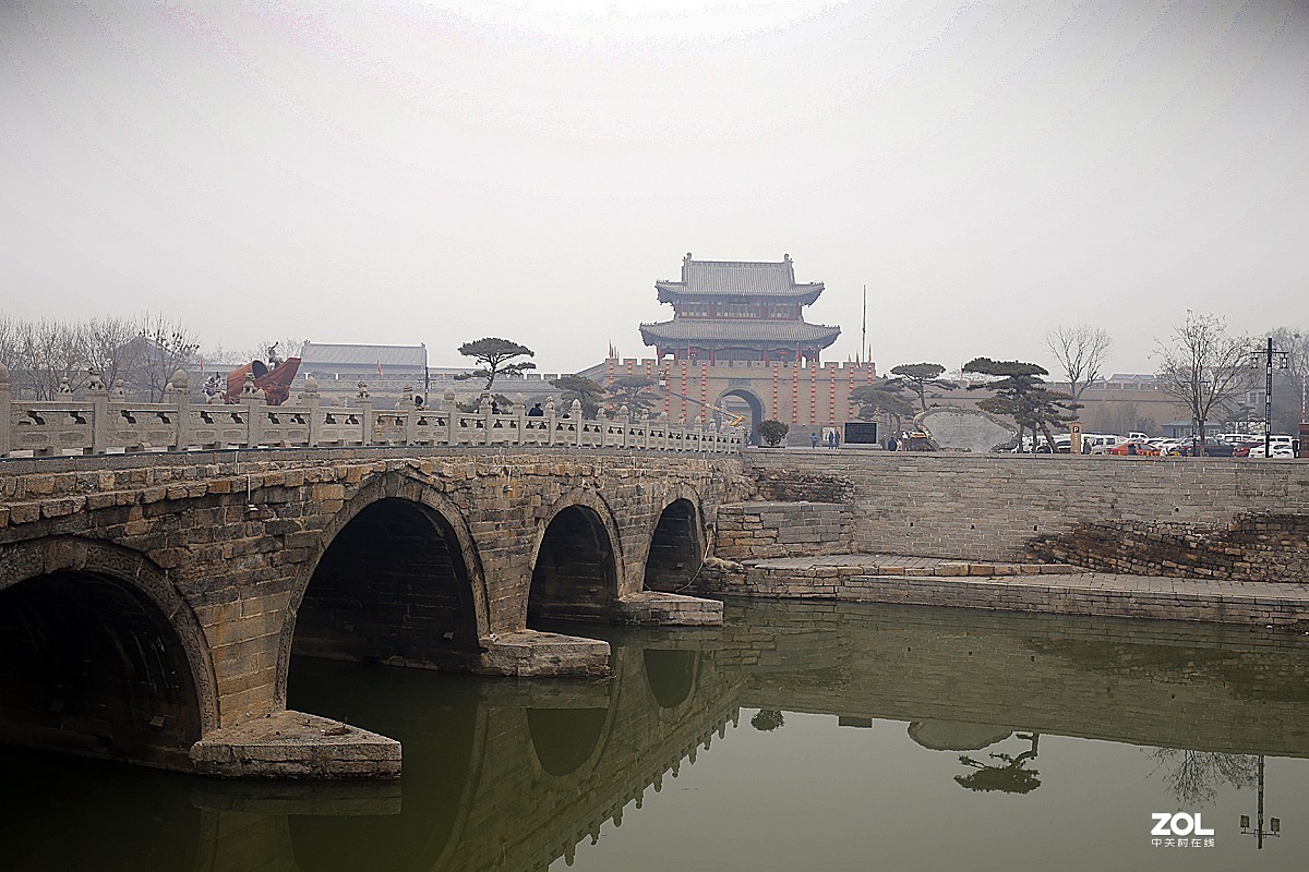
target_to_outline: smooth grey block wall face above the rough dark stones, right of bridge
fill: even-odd
[[[1021,561],[1079,524],[1224,527],[1309,515],[1309,463],[1232,458],[746,454],[763,499],[847,503],[852,550]],[[1301,535],[1302,533],[1297,533]]]

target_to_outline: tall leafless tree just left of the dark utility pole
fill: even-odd
[[[1241,407],[1240,396],[1250,384],[1253,348],[1249,337],[1227,335],[1227,320],[1191,310],[1173,329],[1172,343],[1158,343],[1158,388],[1191,411],[1200,456],[1204,424],[1215,412],[1234,414]]]

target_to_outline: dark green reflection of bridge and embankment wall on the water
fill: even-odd
[[[950,777],[967,794],[1039,795],[1050,735],[1309,756],[1309,648],[1285,634],[759,601],[726,617],[605,628],[605,680],[297,662],[293,705],[403,739],[398,783],[215,783],[3,752],[17,756],[0,760],[7,868],[102,868],[113,854],[187,872],[545,869],[641,808],[742,709],[784,732],[792,711],[898,722],[923,749],[961,754]]]

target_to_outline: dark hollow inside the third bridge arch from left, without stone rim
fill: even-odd
[[[528,625],[541,620],[609,620],[618,569],[609,531],[593,509],[568,506],[551,519],[537,550]]]

